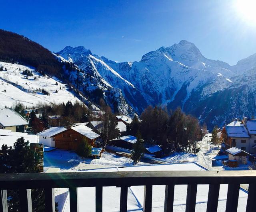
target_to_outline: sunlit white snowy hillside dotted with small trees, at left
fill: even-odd
[[[80,102],[72,92],[68,91],[66,84],[63,84],[56,78],[48,79],[47,76],[42,77],[31,67],[24,65],[0,62],[1,66],[6,68],[7,71],[0,71],[0,108],[13,106],[16,102],[21,102],[28,107],[37,106],[40,103],[62,103],[68,100],[72,103],[76,101]],[[32,71],[33,76],[28,76],[28,79],[26,79],[26,76],[22,75],[22,71],[25,69]],[[34,80],[34,77],[37,79]],[[8,82],[14,83],[14,85]],[[58,85],[55,85],[56,82],[58,82]],[[36,92],[33,95],[32,91],[38,88],[48,90],[50,95],[47,96],[41,92]],[[56,90],[58,90],[58,93],[55,93]]]

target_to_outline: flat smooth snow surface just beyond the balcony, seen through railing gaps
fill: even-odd
[[[125,168],[111,169],[94,169],[86,172],[102,172],[102,171],[205,171],[196,163],[179,163],[179,164],[161,164],[161,165],[142,165]],[[84,172],[84,171],[83,171]],[[198,185],[196,196],[196,211],[206,211],[208,199],[208,185]],[[220,186],[218,212],[224,212],[226,209],[226,196],[228,185]],[[186,191],[187,185],[176,185],[174,191],[174,211],[184,212],[186,207]],[[69,196],[67,194],[65,206],[62,207],[64,212],[69,212]],[[152,211],[163,211],[164,209],[164,185],[153,186]],[[84,198],[86,196],[86,198]],[[144,186],[131,186],[128,188],[128,211],[142,211],[144,199]],[[247,202],[247,193],[243,190],[239,192],[238,211],[244,212]],[[103,211],[115,212],[119,211],[120,206],[120,188],[114,186],[103,188]],[[78,188],[78,207],[79,211],[95,211],[95,188]]]

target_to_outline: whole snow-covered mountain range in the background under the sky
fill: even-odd
[[[256,55],[230,66],[207,59],[193,43],[184,40],[146,53],[139,62],[116,63],[93,55],[84,47],[66,47],[57,54],[74,62],[84,74],[96,76],[98,82],[94,81],[94,86],[118,91],[124,105],[131,106],[138,114],[150,104],[163,104],[168,109],[180,106],[210,127],[245,113],[255,114],[250,102],[252,96],[248,96],[254,90],[246,82],[254,75],[250,70],[256,67]],[[240,95],[248,96],[242,104],[248,106],[248,111],[242,112],[243,107],[239,109],[232,104]]]

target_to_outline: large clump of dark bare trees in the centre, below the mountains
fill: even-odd
[[[160,145],[165,155],[174,151],[197,153],[196,141],[203,137],[196,118],[186,115],[181,108],[168,112],[162,106],[148,106],[140,120],[133,118],[128,132],[134,136],[140,132],[145,143]]]

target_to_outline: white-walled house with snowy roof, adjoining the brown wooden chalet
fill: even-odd
[[[47,130],[44,130],[43,132],[37,133],[39,137],[39,143],[43,143],[45,146],[48,147],[55,147],[55,135],[58,133],[64,132],[67,130],[66,128],[58,128],[58,127],[52,127]]]

